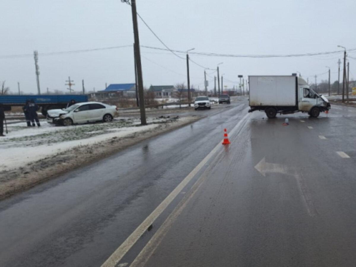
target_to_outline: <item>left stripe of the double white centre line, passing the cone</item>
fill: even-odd
[[[236,131],[236,129],[241,125],[242,122],[245,121],[246,117],[249,114],[247,113],[230,131],[230,135]],[[222,141],[222,140],[221,140]],[[157,206],[155,210],[152,211],[150,215],[136,228],[135,231],[132,232],[132,234],[127,237],[127,239],[114,251],[114,253],[111,254],[111,256],[101,265],[101,267],[111,267],[115,266],[121,259],[124,257],[124,255],[127,253],[127,251],[130,250],[130,248],[136,243],[136,241],[145,233],[147,228],[153,224],[153,222],[157,219],[159,215],[167,208],[169,204],[173,201],[174,198],[177,197],[177,195],[182,191],[182,189],[190,182],[190,180],[193,179],[193,177],[200,171],[200,169],[204,166],[206,162],[209,161],[211,157],[214,156],[216,151],[219,150],[219,148],[223,148],[221,145],[221,141],[216,145],[213,150],[210,151],[210,153],[191,171],[187,177],[185,177],[180,184],[177,185],[176,188],[162,201],[161,204]]]

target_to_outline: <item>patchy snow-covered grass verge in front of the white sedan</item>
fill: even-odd
[[[40,121],[41,127],[27,127],[26,122],[13,123],[8,125],[6,137],[0,139],[0,171],[14,169],[76,146],[152,130],[167,121],[169,119],[148,119],[148,125],[140,126],[139,119],[116,118],[110,123],[69,127],[48,124],[45,120]]]

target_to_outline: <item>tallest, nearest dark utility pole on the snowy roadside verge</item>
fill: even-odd
[[[132,11],[133,36],[135,39],[137,84],[138,84],[138,96],[140,100],[141,125],[146,125],[147,122],[146,122],[145,99],[143,96],[143,79],[142,79],[142,66],[141,66],[141,54],[140,54],[140,39],[138,37],[138,26],[137,26],[136,0],[131,0],[131,11]]]

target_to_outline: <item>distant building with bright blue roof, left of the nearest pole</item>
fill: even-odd
[[[90,98],[105,99],[105,98],[117,98],[120,96],[135,98],[136,97],[136,85],[135,83],[117,83],[110,84],[106,89],[91,93]]]

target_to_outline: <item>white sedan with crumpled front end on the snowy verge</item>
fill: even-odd
[[[116,106],[100,102],[83,102],[66,109],[50,109],[47,111],[49,123],[69,126],[87,122],[109,122],[118,115]]]

